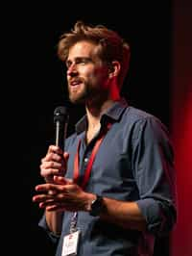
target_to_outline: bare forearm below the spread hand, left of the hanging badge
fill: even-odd
[[[51,232],[60,235],[63,212],[45,210],[45,218]]]

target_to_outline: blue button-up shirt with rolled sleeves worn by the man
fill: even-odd
[[[147,234],[156,237],[167,233],[176,221],[174,156],[166,127],[156,116],[128,106],[125,100],[115,102],[102,115],[101,127],[108,122],[112,125],[97,152],[85,191],[117,200],[135,201],[146,219],[147,230],[144,234],[124,229],[91,217],[87,212],[79,212],[79,256],[138,255],[141,238],[146,238]],[[82,141],[81,177],[97,141],[96,136],[89,144],[85,143],[86,126],[84,115],[76,125],[76,133],[65,141],[70,155],[67,178],[73,178],[79,140]],[[69,233],[72,215],[64,213],[57,256],[61,255],[63,237]],[[39,225],[49,233],[45,217],[41,218]],[[53,234],[49,235],[54,239]],[[150,255],[147,251],[151,245],[147,243],[146,254],[143,255]]]

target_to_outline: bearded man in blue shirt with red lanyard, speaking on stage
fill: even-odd
[[[154,115],[129,106],[120,90],[130,47],[104,26],[79,21],[58,45],[69,98],[86,115],[65,141],[50,145],[33,200],[56,255],[153,255],[156,236],[176,222],[173,150]]]

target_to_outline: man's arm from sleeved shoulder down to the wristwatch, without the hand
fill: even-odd
[[[121,202],[104,198],[101,218],[158,235],[169,232],[177,216],[174,154],[168,131],[155,116],[135,123],[132,174],[139,199]]]

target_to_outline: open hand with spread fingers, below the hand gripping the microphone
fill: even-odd
[[[40,208],[47,211],[89,211],[90,202],[94,195],[84,192],[72,180],[61,176],[54,176],[54,183],[36,186],[36,192],[41,192],[33,197]]]

